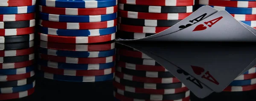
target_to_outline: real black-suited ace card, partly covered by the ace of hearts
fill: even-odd
[[[170,34],[173,32],[180,31],[181,29],[185,29],[186,27],[189,27],[192,24],[198,23],[199,21],[203,20],[206,17],[209,17],[210,15],[212,15],[216,12],[218,12],[218,10],[213,9],[210,6],[203,6],[203,7],[199,8],[198,10],[196,10],[195,12],[193,12],[188,17],[186,17],[185,19],[181,20],[179,23],[175,24],[174,26],[170,27],[169,29],[166,29],[163,32],[160,32],[156,35],[151,35],[146,38],[134,39],[134,40],[143,41],[143,40],[147,39],[146,41],[148,41],[148,39],[151,39],[151,38],[160,37],[163,35],[167,35],[167,34]],[[133,41],[133,40],[119,40],[118,39],[117,41]],[[156,40],[156,41],[162,41],[162,40]]]

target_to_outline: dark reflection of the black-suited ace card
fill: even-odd
[[[172,73],[176,78],[178,78],[183,84],[186,85],[186,87],[189,88],[190,91],[192,91],[198,98],[204,98],[211,94],[213,91],[212,89],[209,89],[206,85],[201,83],[198,79],[192,77],[189,73],[184,71],[183,69],[175,66],[175,64],[159,57],[158,55],[150,52],[151,49],[158,49],[161,48],[157,44],[153,46],[146,46],[142,44],[132,44],[132,43],[124,43],[132,48],[135,48],[139,50],[140,52],[143,52],[144,54],[148,55],[149,57],[153,58],[155,61],[160,63],[162,66],[164,66],[169,72]],[[146,48],[146,49],[144,49]],[[150,48],[148,50],[148,48]]]

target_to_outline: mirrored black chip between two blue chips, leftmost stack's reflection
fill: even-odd
[[[22,80],[15,80],[15,81],[0,81],[0,87],[16,87],[16,86],[22,86],[26,84],[32,84],[35,81],[35,76],[32,76],[31,78],[26,78]]]

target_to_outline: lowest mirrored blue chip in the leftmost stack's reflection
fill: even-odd
[[[32,84],[26,84],[23,86],[0,88],[0,94],[1,93],[3,94],[3,93],[23,92],[28,89],[32,89],[34,87],[35,87],[35,81]]]

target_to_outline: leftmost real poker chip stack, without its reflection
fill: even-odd
[[[0,0],[0,43],[34,40],[36,0]]]

